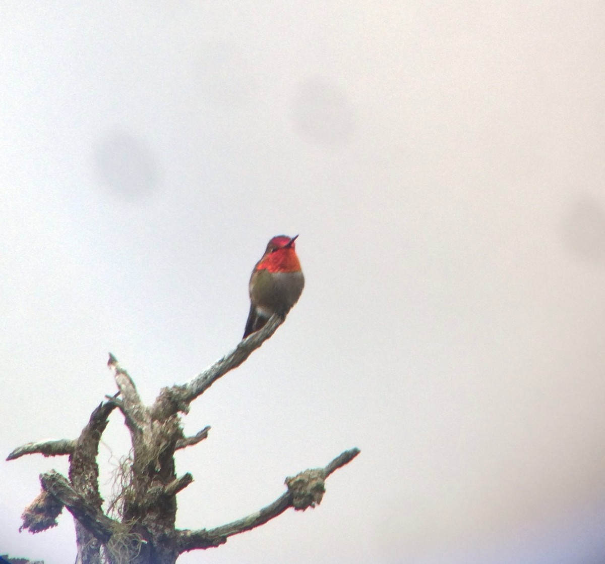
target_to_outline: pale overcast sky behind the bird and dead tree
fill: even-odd
[[[237,344],[270,237],[287,323],[192,405],[178,526],[360,456],[183,564],[605,560],[605,3],[0,5],[2,459]],[[128,449],[118,413],[103,493]],[[64,459],[0,463],[0,553]],[[65,512],[67,513],[67,512]]]

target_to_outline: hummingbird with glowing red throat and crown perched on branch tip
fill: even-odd
[[[263,257],[255,264],[248,284],[250,313],[243,339],[261,329],[273,313],[286,317],[298,301],[304,276],[296,256],[296,237],[298,235],[273,237]]]

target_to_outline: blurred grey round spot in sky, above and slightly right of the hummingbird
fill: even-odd
[[[345,145],[355,129],[355,115],[345,91],[321,78],[299,85],[293,117],[303,136],[324,145]]]

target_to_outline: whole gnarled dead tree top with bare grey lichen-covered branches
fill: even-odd
[[[205,427],[194,436],[184,436],[179,413],[187,413],[195,398],[240,366],[283,321],[274,315],[263,329],[243,339],[190,382],[163,388],[151,406],[143,404],[134,381],[110,354],[108,366],[119,391],[106,396],[77,439],[28,443],[8,455],[7,460],[33,453],[67,455],[70,459],[68,478],[55,471],[41,474],[42,492],[25,510],[22,528],[37,533],[55,526],[56,517],[65,507],[76,526],[76,564],[174,564],[179,554],[219,546],[228,537],[263,525],[290,507],[315,507],[324,494],[324,480],[352,461],[358,449],[345,451],[324,468],[287,478],[287,491],[281,497],[243,519],[211,530],[175,528],[176,496],[191,484],[193,476],[177,476],[174,453],[203,441],[210,430]],[[99,441],[116,408],[123,415],[132,442],[122,492],[114,505],[117,518],[103,512],[97,465]]]

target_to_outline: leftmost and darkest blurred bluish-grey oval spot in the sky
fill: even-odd
[[[94,160],[100,182],[113,192],[140,198],[157,188],[157,163],[151,149],[126,131],[106,134]]]

